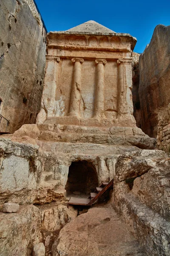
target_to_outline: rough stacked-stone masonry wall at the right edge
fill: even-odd
[[[170,153],[170,104],[158,111],[157,146]]]

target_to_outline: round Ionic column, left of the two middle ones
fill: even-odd
[[[83,58],[72,58],[74,63],[74,73],[73,73],[73,84],[71,90],[70,99],[70,111],[69,116],[79,117],[79,107],[80,107],[80,89],[81,89],[81,79],[82,79],[82,67],[81,64],[84,62]]]

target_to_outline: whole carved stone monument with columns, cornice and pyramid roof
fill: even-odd
[[[37,123],[135,127],[131,51],[136,38],[88,21],[47,35]]]

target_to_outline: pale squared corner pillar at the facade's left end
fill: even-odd
[[[42,92],[41,110],[37,115],[37,123],[43,123],[48,117],[55,116],[55,98],[59,61],[59,57],[46,57],[44,89]]]

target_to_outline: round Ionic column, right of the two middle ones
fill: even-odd
[[[96,90],[94,103],[94,117],[101,118],[104,116],[104,65],[107,63],[105,59],[96,59]]]

